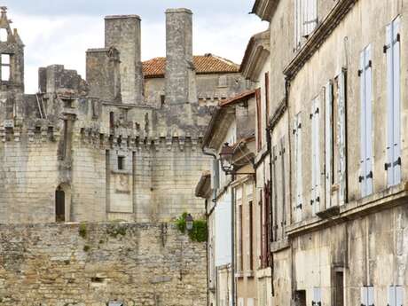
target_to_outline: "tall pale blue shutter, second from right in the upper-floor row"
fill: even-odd
[[[360,176],[361,195],[373,193],[373,90],[371,45],[360,54]]]

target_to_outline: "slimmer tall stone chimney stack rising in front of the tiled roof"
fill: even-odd
[[[166,11],[166,102],[170,105],[197,101],[192,62],[192,11]]]

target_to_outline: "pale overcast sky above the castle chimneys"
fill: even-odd
[[[240,63],[251,35],[267,24],[248,14],[255,0],[3,0],[26,45],[26,92],[37,90],[37,69],[63,64],[85,78],[85,51],[104,46],[104,16],[138,14],[142,59],[165,55],[167,8],[193,15],[194,54],[213,53]]]

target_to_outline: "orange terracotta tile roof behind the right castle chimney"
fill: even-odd
[[[193,64],[198,75],[238,73],[239,65],[231,60],[223,59],[212,54],[193,57]],[[145,78],[164,77],[166,58],[154,58],[143,62]]]

